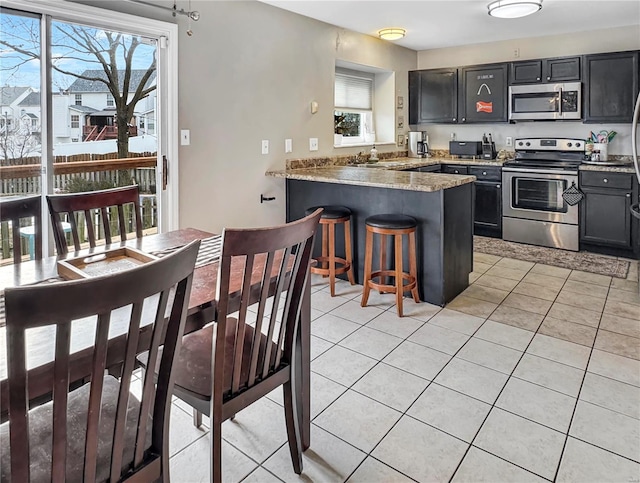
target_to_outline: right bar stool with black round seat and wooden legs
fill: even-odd
[[[416,230],[418,222],[415,218],[406,215],[374,215],[365,220],[367,237],[365,240],[364,252],[364,281],[362,289],[361,306],[366,307],[369,299],[369,291],[375,288],[380,293],[395,293],[398,316],[402,317],[402,297],[404,292],[411,291],[413,300],[420,302],[417,284],[417,262],[416,262]],[[380,238],[380,269],[372,272],[371,265],[373,259],[373,235],[382,235]],[[395,243],[395,263],[393,269],[385,269],[387,261],[387,235],[393,235]],[[409,238],[409,273],[402,271],[402,236]],[[393,277],[393,285],[383,283],[385,277]],[[373,281],[380,278],[380,283]],[[404,281],[407,283],[404,283]]]

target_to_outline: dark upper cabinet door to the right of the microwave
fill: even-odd
[[[585,122],[631,122],[638,95],[638,52],[584,59]]]

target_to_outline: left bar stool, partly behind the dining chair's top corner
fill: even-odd
[[[351,285],[355,285],[353,278],[353,259],[351,257],[351,210],[344,206],[313,206],[306,210],[310,215],[318,208],[322,208],[320,225],[322,226],[322,256],[315,260],[317,266],[311,267],[311,273],[329,277],[331,296],[336,295],[336,275],[347,274]],[[336,257],[336,225],[344,224],[345,257]],[[325,268],[326,265],[326,268]]]

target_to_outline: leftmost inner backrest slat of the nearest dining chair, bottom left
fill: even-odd
[[[69,347],[71,321],[58,325],[53,383],[53,447],[51,476],[53,481],[64,480],[67,466],[67,400],[69,395]]]

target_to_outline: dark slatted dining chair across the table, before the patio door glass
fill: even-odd
[[[69,193],[61,195],[47,196],[47,204],[49,205],[49,214],[51,215],[51,224],[53,225],[53,235],[56,242],[56,250],[58,255],[68,253],[67,237],[63,220],[60,215],[68,215],[71,224],[71,237],[75,251],[80,250],[80,231],[78,227],[77,214],[84,213],[86,223],[86,236],[89,239],[89,246],[96,246],[96,227],[92,222],[95,210],[100,210],[100,223],[104,231],[105,243],[108,245],[112,242],[115,234],[111,233],[112,222],[116,224],[116,220],[112,220],[109,208],[115,207],[118,211],[117,227],[121,241],[127,239],[128,223],[125,219],[125,206],[132,206],[133,223],[137,238],[142,238],[142,215],[140,212],[140,193],[137,185],[126,186],[124,188],[113,188],[102,191],[87,191],[85,193]],[[68,228],[67,230],[68,231]]]

